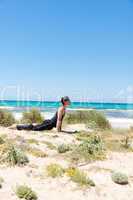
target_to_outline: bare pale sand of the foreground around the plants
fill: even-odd
[[[84,130],[84,125],[67,127]],[[132,200],[133,199],[133,153],[108,152],[107,159],[79,166],[96,183],[94,188],[80,188],[71,182],[68,177],[49,178],[45,176],[45,168],[50,163],[58,163],[68,167],[69,162],[63,156],[59,156],[56,150],[51,150],[42,141],[51,142],[54,145],[62,143],[76,143],[74,135],[52,132],[26,132],[0,127],[0,134],[6,134],[15,139],[21,136],[19,142],[27,139],[36,139],[39,144],[32,144],[48,154],[45,158],[29,156],[30,163],[25,167],[7,167],[0,165],[0,177],[4,178],[4,184],[0,189],[0,200],[17,200],[15,195],[16,185],[26,184],[37,193],[38,200]],[[129,175],[130,184],[120,186],[112,182],[111,172],[122,171]],[[44,176],[44,177],[43,177]]]

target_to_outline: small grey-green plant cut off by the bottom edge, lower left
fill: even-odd
[[[20,199],[25,200],[37,200],[36,193],[30,188],[25,185],[18,186],[16,188],[16,195]]]

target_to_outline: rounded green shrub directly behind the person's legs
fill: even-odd
[[[23,112],[22,123],[42,123],[44,118],[37,109],[31,109],[29,112]]]

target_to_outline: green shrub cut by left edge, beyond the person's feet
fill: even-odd
[[[15,123],[12,113],[7,110],[0,109],[0,125],[4,127],[11,126]]]

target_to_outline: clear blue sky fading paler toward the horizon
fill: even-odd
[[[0,69],[1,98],[131,96],[133,0],[0,0]]]

